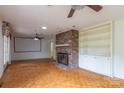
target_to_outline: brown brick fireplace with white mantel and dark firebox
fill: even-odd
[[[56,57],[59,64],[66,64],[71,68],[78,67],[78,37],[77,30],[69,30],[56,35]],[[63,55],[61,58],[60,54],[67,56]]]

